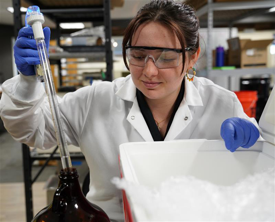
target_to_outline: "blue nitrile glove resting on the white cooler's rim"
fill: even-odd
[[[249,148],[253,146],[260,133],[257,127],[250,121],[242,118],[229,118],[221,124],[221,137],[225,146],[234,152],[239,146]]]

